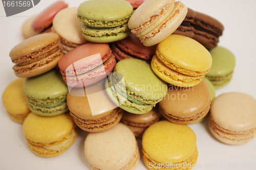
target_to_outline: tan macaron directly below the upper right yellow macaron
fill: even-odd
[[[203,119],[210,110],[210,91],[201,81],[197,86],[182,88],[170,85],[159,102],[162,115],[175,124],[192,124]]]

